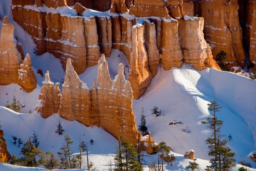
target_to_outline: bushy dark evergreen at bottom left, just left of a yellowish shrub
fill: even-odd
[[[40,148],[35,148],[30,139],[24,144],[20,150],[20,154],[24,155],[24,157],[20,158],[20,164],[23,166],[38,167],[44,163],[44,153]]]

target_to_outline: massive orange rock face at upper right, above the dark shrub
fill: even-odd
[[[227,59],[224,61],[230,68],[243,66],[245,59],[238,9],[237,0],[202,0],[201,2],[206,42],[211,46],[214,57],[221,50],[227,53]]]

